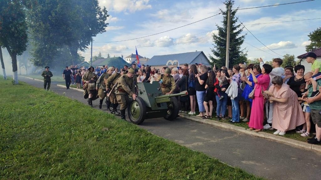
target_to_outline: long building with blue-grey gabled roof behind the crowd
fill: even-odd
[[[153,56],[149,61],[148,65],[156,67],[156,69],[161,69],[162,67],[182,67],[183,64],[203,64],[206,66],[211,66],[210,61],[206,57],[203,51],[195,51],[188,53],[179,54],[166,54],[166,55],[156,55]]]

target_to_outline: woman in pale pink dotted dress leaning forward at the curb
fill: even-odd
[[[289,85],[283,84],[281,76],[275,76],[272,84],[269,92],[274,97],[271,96],[269,101],[274,104],[272,127],[277,130],[273,134],[285,135],[286,131],[304,124],[305,118],[298,102],[298,95]]]

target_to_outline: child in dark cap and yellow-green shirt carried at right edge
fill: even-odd
[[[308,53],[306,56],[306,61],[308,63],[311,63],[311,72],[312,77],[309,79],[313,86],[313,92],[311,94],[310,98],[313,98],[319,94],[319,91],[317,91],[317,79],[321,78],[321,62],[317,60],[317,55],[315,53]]]

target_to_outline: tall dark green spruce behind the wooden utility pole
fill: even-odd
[[[218,26],[216,24],[218,35],[213,34],[213,48],[211,51],[214,56],[210,55],[211,63],[215,64],[217,67],[225,66],[226,59],[226,35],[227,35],[227,16],[228,16],[228,8],[229,5],[234,4],[234,0],[225,0],[224,2],[226,6],[226,11],[221,10],[223,14],[223,27]],[[245,62],[247,60],[247,52],[243,52],[241,50],[241,45],[244,42],[245,36],[239,36],[243,31],[243,28],[240,28],[240,24],[236,25],[238,18],[235,16],[237,12],[236,10],[231,11],[230,17],[230,53],[229,53],[229,66],[232,67],[235,64],[239,64],[240,62]],[[215,58],[217,57],[217,58]]]

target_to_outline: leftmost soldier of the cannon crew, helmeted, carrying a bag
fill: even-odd
[[[82,80],[88,85],[88,83],[96,83],[97,76],[94,73],[94,67],[89,66],[88,72],[85,72],[85,74],[82,77]],[[85,85],[84,85],[85,86]],[[87,86],[87,89],[84,90],[84,97],[87,97],[88,94],[88,104],[92,107],[92,100],[97,99],[96,97],[93,97],[93,94],[96,94],[96,89],[90,90]]]

